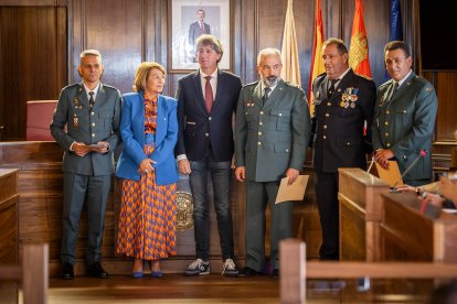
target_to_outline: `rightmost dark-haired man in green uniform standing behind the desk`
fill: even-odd
[[[429,183],[432,138],[438,100],[435,89],[412,70],[410,46],[392,41],[384,47],[384,61],[392,77],[378,89],[372,124],[375,160],[384,169],[395,160],[403,182],[412,186]],[[421,153],[422,150],[427,151]],[[417,162],[415,162],[415,160]],[[407,172],[406,169],[411,166]]]

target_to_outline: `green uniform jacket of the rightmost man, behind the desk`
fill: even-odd
[[[435,89],[429,82],[414,72],[387,100],[392,87],[393,83],[389,80],[378,89],[371,128],[373,150],[391,149],[403,173],[424,149],[427,155],[421,158],[403,180],[431,178],[432,138],[438,109]]]

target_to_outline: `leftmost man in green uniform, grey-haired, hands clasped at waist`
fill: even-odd
[[[100,264],[102,240],[114,172],[113,153],[119,141],[120,124],[120,93],[99,82],[103,65],[98,51],[81,53],[78,72],[83,83],[62,89],[51,122],[52,135],[65,150],[61,251],[62,278],[65,280],[74,276],[77,230],[85,200],[88,273],[102,279],[108,276]]]

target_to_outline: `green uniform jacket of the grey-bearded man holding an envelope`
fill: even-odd
[[[263,105],[261,83],[243,87],[236,109],[235,165],[246,180],[278,181],[302,170],[311,132],[305,91],[280,80]]]

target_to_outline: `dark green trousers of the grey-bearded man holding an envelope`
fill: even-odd
[[[293,203],[275,204],[278,193],[277,182],[246,184],[246,263],[245,265],[261,272],[265,263],[265,208],[269,204],[270,239],[269,260],[273,269],[279,269],[279,241],[290,238]]]

